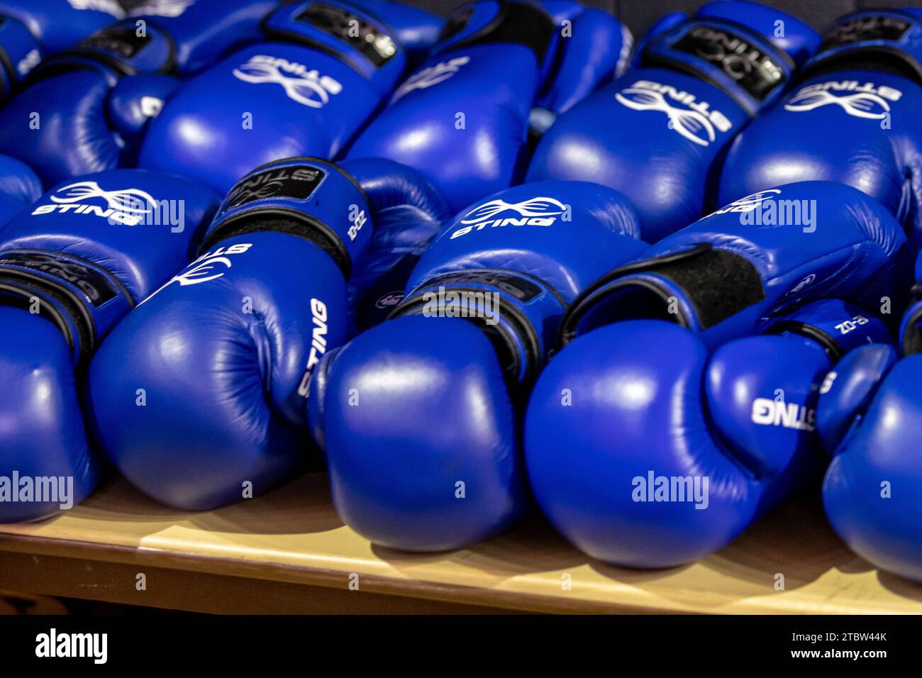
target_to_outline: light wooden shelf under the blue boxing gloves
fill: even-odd
[[[922,613],[922,587],[851,553],[803,498],[699,563],[636,571],[539,517],[463,551],[379,548],[339,521],[324,474],[207,513],[112,482],[59,517],[0,525],[0,589],[218,613]]]

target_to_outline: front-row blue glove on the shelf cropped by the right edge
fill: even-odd
[[[922,256],[916,262],[922,280]],[[833,456],[823,482],[839,536],[882,569],[922,581],[922,302],[903,318],[898,360],[876,344],[852,351],[823,385],[817,427]]]

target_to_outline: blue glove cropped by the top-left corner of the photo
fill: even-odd
[[[118,0],[0,0],[0,16],[21,21],[41,52],[54,54],[125,18],[125,10]]]

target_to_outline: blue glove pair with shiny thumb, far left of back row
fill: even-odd
[[[134,164],[148,120],[187,75],[254,39],[274,0],[197,0],[127,18],[45,59],[0,111],[0,152],[45,184]],[[162,168],[169,172],[180,165]]]

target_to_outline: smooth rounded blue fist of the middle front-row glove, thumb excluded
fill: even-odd
[[[459,548],[521,517],[525,474],[501,366],[478,327],[399,317],[340,351],[325,450],[334,502],[372,541]]]

